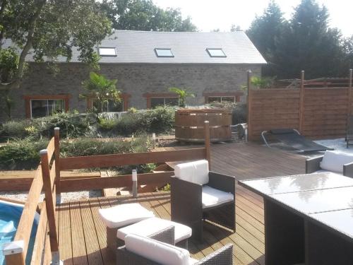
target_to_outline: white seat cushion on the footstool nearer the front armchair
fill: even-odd
[[[192,229],[189,228],[189,226],[182,225],[181,223],[175,223],[171,220],[164,220],[156,217],[142,220],[138,223],[134,223],[133,225],[128,225],[125,228],[120,228],[118,232],[116,232],[116,237],[121,240],[124,240],[124,238],[128,234],[136,234],[148,237],[160,230],[163,230],[164,228],[168,228],[171,225],[173,225],[175,228],[175,243],[191,237]]]

